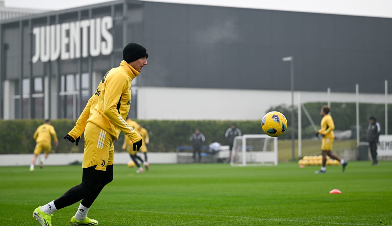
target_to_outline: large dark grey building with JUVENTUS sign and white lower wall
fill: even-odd
[[[0,22],[0,115],[76,118],[128,42],[148,65],[131,116],[256,119],[271,105],[378,101],[392,77],[392,19],[120,0]],[[136,89],[137,86],[137,89]],[[391,90],[391,89],[390,89]]]

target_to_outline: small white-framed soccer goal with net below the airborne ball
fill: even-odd
[[[231,166],[278,165],[278,138],[243,135],[234,138]]]

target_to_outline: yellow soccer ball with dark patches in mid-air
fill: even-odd
[[[287,119],[282,113],[271,111],[264,115],[261,128],[268,136],[280,136],[287,129]]]

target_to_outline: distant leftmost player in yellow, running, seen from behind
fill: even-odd
[[[37,130],[33,135],[33,138],[37,144],[34,148],[34,156],[33,160],[31,160],[30,172],[34,171],[35,161],[37,159],[37,156],[41,154],[42,150],[44,150],[45,152],[45,157],[41,158],[40,167],[42,168],[44,166],[44,161],[48,158],[49,152],[52,149],[51,136],[53,136],[54,144],[57,146],[58,140],[56,131],[54,130],[54,127],[50,124],[50,120],[46,119],[44,124],[38,126]]]

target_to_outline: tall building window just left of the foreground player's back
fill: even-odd
[[[74,118],[79,116],[79,87],[82,88],[82,109],[89,101],[89,74],[82,74],[82,84],[79,84],[79,74],[61,75],[60,78],[60,118]]]

